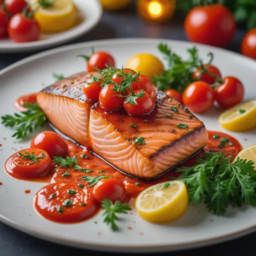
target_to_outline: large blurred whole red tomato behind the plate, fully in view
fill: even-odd
[[[221,4],[193,8],[184,26],[190,41],[218,47],[225,47],[232,41],[236,28],[231,11]]]

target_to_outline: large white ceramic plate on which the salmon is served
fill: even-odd
[[[168,43],[179,55],[186,56],[191,43],[160,39],[117,39],[65,46],[31,56],[0,71],[0,116],[13,113],[14,100],[30,92],[41,90],[54,82],[52,73],[65,76],[84,70],[84,61],[76,59],[79,53],[89,54],[91,47],[112,53],[117,65],[139,52],[150,52],[161,57],[156,45]],[[200,56],[208,51],[215,55],[214,64],[223,75],[235,75],[246,86],[246,99],[255,99],[256,62],[225,50],[198,45]],[[205,58],[205,61],[207,59]],[[212,110],[199,116],[210,130],[223,131],[217,123],[221,111]],[[185,216],[169,225],[153,225],[139,217],[135,210],[125,215],[118,224],[119,232],[112,232],[103,224],[102,214],[83,223],[63,225],[39,217],[33,210],[33,196],[44,184],[16,180],[3,170],[5,160],[22,147],[29,147],[30,139],[15,142],[13,131],[0,125],[0,220],[23,232],[60,244],[119,252],[171,251],[213,244],[255,231],[256,209],[244,206],[228,210],[225,217],[208,213],[204,205],[190,205]],[[230,133],[243,146],[256,143],[256,130]],[[6,138],[6,140],[4,140]],[[245,141],[244,139],[247,139]],[[25,194],[24,190],[31,190]],[[95,224],[95,221],[98,224]],[[127,227],[131,227],[131,229]]]

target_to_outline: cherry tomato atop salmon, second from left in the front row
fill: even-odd
[[[107,111],[118,111],[122,109],[125,97],[113,89],[113,84],[105,86],[99,93],[99,104]]]

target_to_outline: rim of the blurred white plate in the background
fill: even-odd
[[[81,4],[83,4],[83,1],[81,0],[78,0],[78,1]],[[93,19],[90,20],[90,23],[88,25],[87,25],[88,21],[84,19],[82,23],[75,26],[73,29],[64,31],[64,32],[67,32],[68,35],[65,35],[61,38],[53,37],[50,39],[44,39],[44,40],[39,40],[34,42],[11,44],[11,46],[8,46],[8,42],[5,43],[3,46],[0,44],[0,53],[29,52],[29,51],[35,51],[40,49],[43,50],[43,49],[47,49],[53,46],[63,44],[65,42],[72,41],[78,38],[79,36],[84,35],[84,33],[91,31],[100,22],[100,19],[102,18],[102,15],[103,15],[103,8],[102,8],[102,5],[99,3],[99,0],[93,0],[91,2],[97,5],[98,12],[96,16],[93,16]],[[86,29],[84,28],[84,26],[86,26]]]

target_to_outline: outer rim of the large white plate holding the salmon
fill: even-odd
[[[45,56],[49,56],[54,53],[59,53],[59,52],[64,52],[72,49],[80,49],[83,47],[89,47],[90,45],[94,46],[104,46],[104,44],[109,44],[109,43],[119,43],[119,44],[127,44],[127,43],[159,43],[159,42],[166,42],[166,43],[179,43],[183,44],[184,46],[191,46],[196,45],[199,46],[200,48],[208,48],[208,49],[214,49],[215,51],[220,51],[220,52],[226,52],[230,53],[231,55],[234,55],[235,57],[239,57],[241,59],[245,59],[248,63],[251,63],[255,65],[255,62],[253,59],[248,58],[246,56],[240,55],[240,53],[233,52],[230,50],[226,49],[220,49],[216,48],[213,46],[208,46],[208,45],[203,45],[203,44],[197,44],[197,43],[192,43],[192,42],[185,42],[185,41],[178,41],[178,40],[173,40],[173,39],[162,39],[162,38],[118,38],[118,39],[104,39],[104,40],[97,40],[97,41],[89,41],[89,42],[82,42],[82,43],[76,43],[76,44],[71,44],[71,45],[65,45],[65,46],[60,46],[55,49],[50,49],[46,50],[40,53],[36,53],[35,55],[26,57],[22,60],[19,60],[18,62],[11,64],[4,68],[3,70],[0,71],[0,78],[2,75],[5,75],[5,73],[8,73],[12,71],[15,68],[18,68],[19,66],[22,66],[23,64],[29,63],[33,60],[40,59]],[[239,231],[235,231],[229,234],[224,234],[224,235],[215,235],[211,239],[200,239],[198,241],[194,242],[180,242],[175,245],[170,245],[170,244],[163,244],[163,245],[109,245],[109,244],[104,244],[104,242],[77,242],[75,240],[70,240],[70,239],[65,239],[65,238],[58,238],[55,237],[54,235],[51,235],[49,233],[45,232],[39,232],[35,228],[29,228],[24,225],[21,225],[17,223],[16,221],[5,217],[4,215],[0,214],[0,220],[5,223],[6,225],[9,225],[13,228],[16,228],[19,231],[22,231],[24,233],[33,235],[34,237],[41,238],[50,242],[55,242],[57,244],[62,244],[62,245],[69,245],[72,247],[79,247],[79,248],[87,248],[90,250],[97,250],[97,251],[109,251],[109,252],[123,252],[123,253],[129,253],[129,252],[166,252],[166,251],[176,251],[176,250],[186,250],[188,248],[197,248],[201,246],[208,246],[208,245],[213,245],[213,244],[218,244],[219,242],[224,242],[228,240],[232,240],[235,238],[242,237],[246,234],[250,234],[254,231],[256,231],[256,225],[251,225],[245,228],[241,228]],[[124,251],[125,250],[125,251]]]

